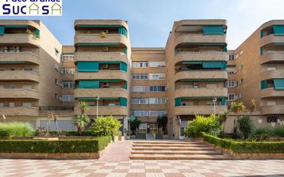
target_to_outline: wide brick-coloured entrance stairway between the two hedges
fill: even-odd
[[[199,142],[178,140],[134,140],[132,160],[225,160],[232,159]]]

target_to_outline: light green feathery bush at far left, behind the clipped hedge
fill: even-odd
[[[30,123],[12,122],[0,123],[0,137],[12,138],[14,136],[33,136],[34,129]]]

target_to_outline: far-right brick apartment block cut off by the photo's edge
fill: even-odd
[[[238,48],[235,60],[236,100],[247,108],[256,100],[263,122],[284,119],[284,21],[264,23]]]

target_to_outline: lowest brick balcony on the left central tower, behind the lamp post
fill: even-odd
[[[74,107],[74,113],[80,114],[81,110],[80,107]],[[97,115],[97,107],[96,106],[89,106],[88,115],[96,116]],[[128,116],[128,107],[123,106],[99,106],[99,115],[102,116]]]

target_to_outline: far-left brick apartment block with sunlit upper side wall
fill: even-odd
[[[39,127],[39,109],[61,105],[62,46],[41,21],[26,20],[1,20],[0,46],[0,114]]]

